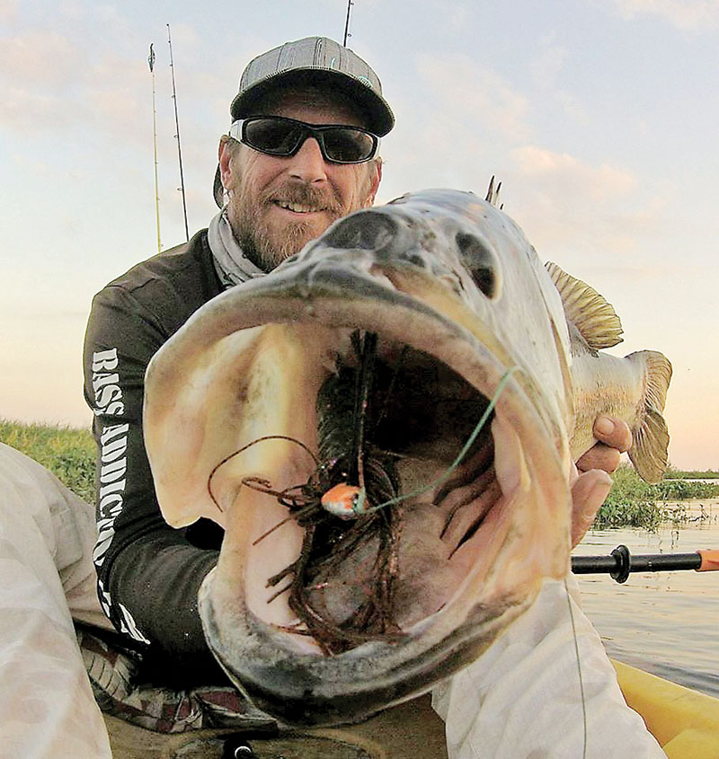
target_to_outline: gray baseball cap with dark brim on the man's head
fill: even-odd
[[[303,84],[326,86],[349,95],[367,115],[367,128],[377,137],[385,137],[395,126],[395,116],[382,96],[377,74],[351,49],[327,37],[285,42],[253,58],[240,77],[239,92],[230,105],[232,120],[260,115],[258,103],[276,87]],[[222,207],[219,166],[213,194],[217,206]]]

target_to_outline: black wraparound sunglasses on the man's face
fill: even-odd
[[[230,127],[230,137],[269,155],[294,155],[314,137],[327,163],[364,163],[377,155],[379,137],[359,127],[306,124],[283,116],[251,116]]]

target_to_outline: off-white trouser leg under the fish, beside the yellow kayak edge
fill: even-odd
[[[666,756],[626,705],[578,597],[572,576],[546,580],[480,658],[435,687],[449,759]]]

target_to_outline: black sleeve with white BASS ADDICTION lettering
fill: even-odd
[[[205,682],[219,673],[197,609],[218,552],[193,545],[191,528],[167,525],[155,498],[142,404],[146,366],[169,336],[132,292],[106,287],[93,300],[85,335],[84,395],[98,446],[93,561],[102,608],[168,673],[182,665],[186,685],[193,672]]]

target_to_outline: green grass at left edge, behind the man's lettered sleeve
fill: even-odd
[[[89,429],[0,419],[0,442],[48,467],[70,490],[93,503],[95,441]]]

